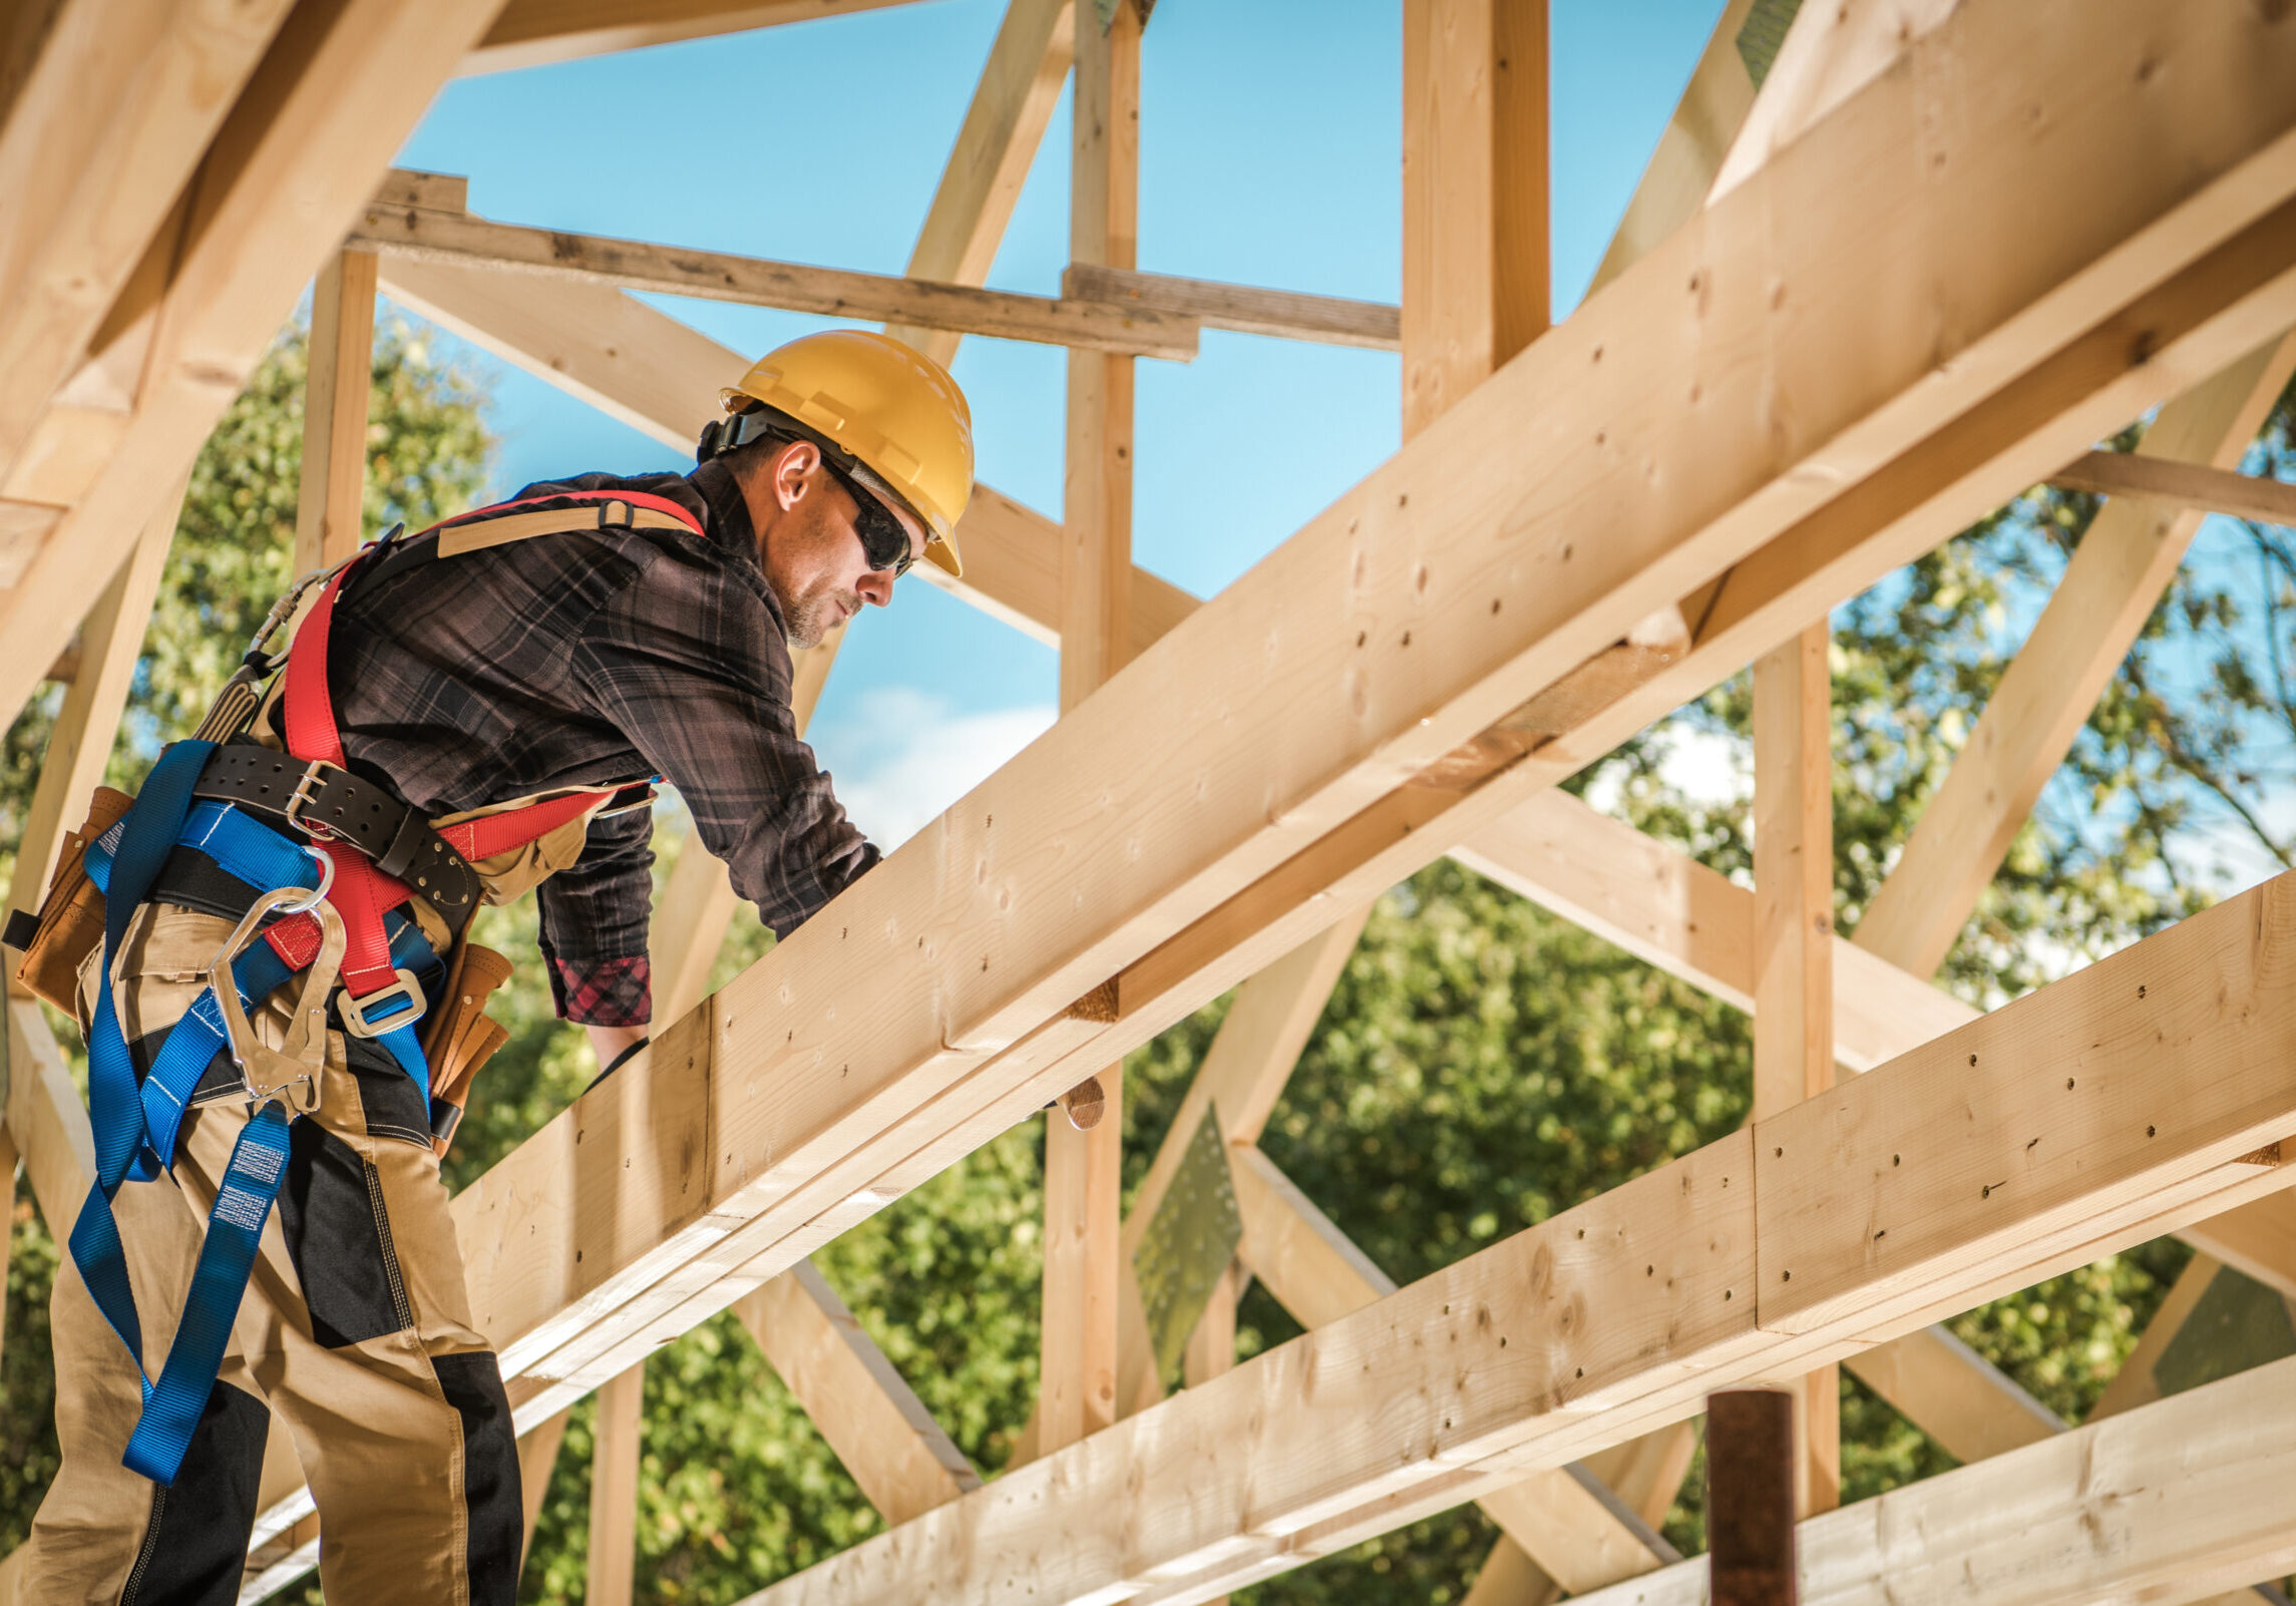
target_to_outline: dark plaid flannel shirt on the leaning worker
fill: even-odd
[[[581,475],[553,491],[650,491],[684,530],[569,528],[418,564],[335,610],[328,681],[354,771],[427,814],[661,775],[732,888],[788,934],[877,863],[797,736],[781,606],[732,475]],[[590,824],[542,883],[558,1014],[652,1019],[652,810]]]

